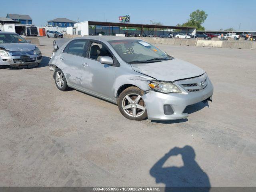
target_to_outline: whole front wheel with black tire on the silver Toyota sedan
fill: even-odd
[[[118,109],[130,120],[144,120],[148,117],[146,105],[141,98],[144,92],[138,87],[128,87],[118,97]]]

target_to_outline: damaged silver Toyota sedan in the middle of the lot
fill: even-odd
[[[131,120],[188,117],[186,106],[212,100],[206,72],[139,39],[87,36],[54,42],[49,62],[58,89],[118,104]]]

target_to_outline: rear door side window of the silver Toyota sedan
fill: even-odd
[[[86,45],[86,40],[73,40],[65,47],[63,52],[69,53],[72,55],[83,56],[85,45]]]

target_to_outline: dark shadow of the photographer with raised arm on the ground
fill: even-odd
[[[171,157],[180,154],[184,166],[163,167]],[[195,151],[191,146],[174,147],[166,153],[150,169],[150,175],[156,178],[156,183],[164,183],[165,191],[200,191],[210,190],[210,180],[195,160]]]

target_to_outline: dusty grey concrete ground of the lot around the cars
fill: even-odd
[[[38,68],[0,70],[0,186],[256,186],[255,50],[157,45],[208,73],[213,102],[136,122],[58,90],[52,40]]]

